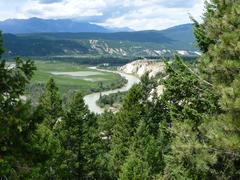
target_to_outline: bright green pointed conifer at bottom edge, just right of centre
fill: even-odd
[[[128,156],[121,168],[120,179],[156,178],[161,166],[158,139],[150,135],[148,125],[141,120],[132,137]]]

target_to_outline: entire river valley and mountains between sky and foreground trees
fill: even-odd
[[[16,31],[11,31],[13,28],[9,28],[8,22],[16,27]],[[56,31],[56,24],[52,24],[53,22],[59,23],[58,26],[65,24],[66,27]],[[178,54],[183,60],[195,61],[200,55],[198,49],[193,46],[195,38],[192,24],[174,26],[161,31],[126,32],[113,32],[101,28],[99,31],[96,29],[88,31],[80,27],[83,25],[87,28],[88,24],[70,23],[70,26],[78,27],[73,30],[67,27],[67,24],[69,21],[37,18],[0,23],[5,32],[4,58],[13,60],[16,56],[22,56],[37,60],[35,61],[37,71],[26,87],[27,97],[35,105],[44,91],[46,82],[53,78],[64,97],[64,103],[67,104],[76,91],[81,92],[82,95],[88,95],[85,96],[85,102],[89,109],[95,113],[102,113],[104,111],[102,107],[106,105],[101,103],[102,96],[111,100],[122,99],[124,93],[120,93],[118,97],[116,96],[118,91],[128,91],[139,81],[136,77],[141,77],[144,72],[154,67],[151,65],[152,61],[171,59],[174,54]],[[44,29],[44,26],[49,27]],[[90,26],[93,29],[99,28]],[[159,70],[162,71],[162,62],[159,63],[160,66],[154,67],[152,74],[156,75]],[[106,65],[115,69],[122,67],[120,69],[122,72],[89,68]]]

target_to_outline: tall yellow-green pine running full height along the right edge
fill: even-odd
[[[220,112],[206,120],[202,131],[208,138],[212,176],[240,177],[240,2],[211,0],[207,3],[203,28],[213,43],[203,54],[200,69],[220,94]]]

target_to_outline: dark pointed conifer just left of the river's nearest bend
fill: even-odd
[[[69,111],[56,127],[63,147],[57,172],[61,179],[92,179],[97,176],[96,118],[77,93]]]

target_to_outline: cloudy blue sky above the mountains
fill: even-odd
[[[0,0],[0,20],[73,19],[111,28],[161,30],[201,21],[204,0]]]

